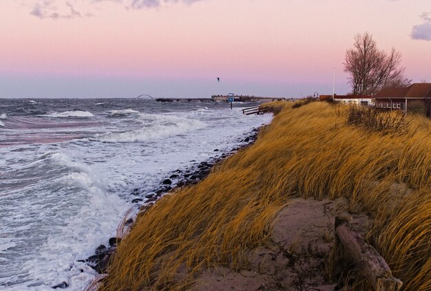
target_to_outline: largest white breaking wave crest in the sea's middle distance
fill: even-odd
[[[142,123],[144,127],[120,133],[105,133],[92,140],[100,142],[145,142],[178,136],[206,127],[206,124],[200,120],[179,116],[139,114],[137,121]]]

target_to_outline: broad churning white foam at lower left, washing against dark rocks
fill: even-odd
[[[74,162],[65,153],[49,151],[27,166],[31,166],[34,171],[65,169],[61,172],[65,175],[45,183],[52,184],[49,188],[59,189],[58,194],[40,195],[38,192],[41,190],[34,188],[34,194],[41,201],[25,205],[39,215],[56,216],[50,219],[47,230],[43,227],[37,233],[39,237],[49,234],[45,244],[33,250],[33,258],[23,263],[23,271],[28,274],[30,283],[14,285],[10,290],[52,290],[53,285],[63,281],[70,286],[69,290],[83,290],[97,274],[77,260],[89,257],[94,248],[115,235],[116,226],[130,205],[115,193],[109,193],[89,166]],[[72,190],[72,196],[65,196],[72,194],[67,189]],[[63,212],[64,206],[54,206],[48,211],[44,205],[52,205],[53,199],[76,211]],[[67,200],[67,203],[61,200]],[[58,217],[61,213],[65,216]],[[13,241],[4,241],[0,253],[14,246],[17,244]]]

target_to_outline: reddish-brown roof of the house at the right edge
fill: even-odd
[[[374,98],[425,98],[431,97],[431,83],[414,83],[403,88],[386,88]]]

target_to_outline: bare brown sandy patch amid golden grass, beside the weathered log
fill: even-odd
[[[336,216],[352,217],[350,223],[362,235],[370,228],[366,215],[347,213],[344,199],[294,198],[280,212],[270,246],[249,252],[247,270],[207,270],[191,290],[334,290],[337,284],[330,281],[334,267],[328,257],[335,243]]]

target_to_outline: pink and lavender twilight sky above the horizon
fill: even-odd
[[[357,33],[431,82],[431,0],[1,0],[0,98],[347,94]],[[217,78],[220,78],[218,82]]]

